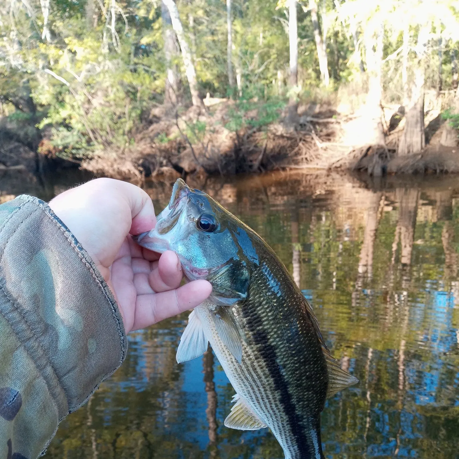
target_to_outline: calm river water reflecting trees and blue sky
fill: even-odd
[[[49,199],[78,181],[30,192]],[[274,173],[189,183],[273,247],[332,353],[360,380],[326,403],[325,457],[458,458],[459,178]],[[145,185],[158,212],[171,186]],[[224,427],[234,391],[211,351],[175,362],[187,315],[129,335],[123,366],[62,422],[46,458],[283,457],[267,429]]]

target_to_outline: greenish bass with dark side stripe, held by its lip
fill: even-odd
[[[327,397],[358,383],[332,357],[306,298],[263,239],[212,197],[178,179],[154,229],[136,236],[172,250],[189,280],[212,284],[193,309],[176,360],[210,343],[235,389],[229,428],[268,427],[285,459],[324,458],[320,413]]]

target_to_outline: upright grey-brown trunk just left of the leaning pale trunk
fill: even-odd
[[[176,105],[179,101],[179,71],[174,62],[177,56],[177,45],[175,33],[172,28],[171,16],[168,7],[161,2],[162,36],[164,39],[164,56],[166,58],[166,85],[164,90],[164,101]]]

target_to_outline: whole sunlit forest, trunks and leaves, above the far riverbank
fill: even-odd
[[[125,148],[153,107],[207,94],[289,100],[295,115],[341,91],[375,131],[381,100],[459,94],[456,0],[5,0],[0,34],[0,115],[73,157]]]

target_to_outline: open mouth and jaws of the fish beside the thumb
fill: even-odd
[[[153,229],[140,235],[133,236],[133,240],[142,247],[153,252],[163,253],[169,250],[171,230],[179,222],[185,210],[187,196],[192,190],[182,179],[177,179],[172,189],[171,198],[167,207],[157,216],[157,223]],[[166,235],[170,233],[170,236]]]

